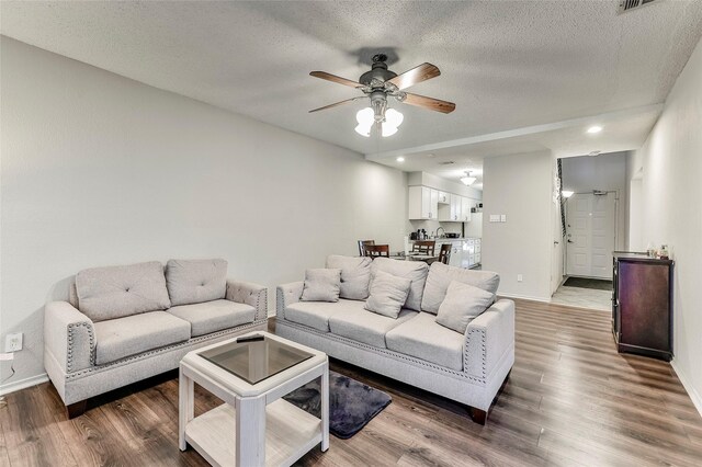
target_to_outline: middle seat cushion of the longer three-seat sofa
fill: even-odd
[[[363,309],[352,312],[343,311],[329,317],[329,329],[337,335],[385,349],[387,331],[416,315],[417,311],[403,309],[399,317],[395,319]]]

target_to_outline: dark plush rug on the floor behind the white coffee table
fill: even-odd
[[[283,399],[319,417],[321,409],[319,379],[295,389]],[[392,401],[393,399],[382,390],[336,372],[329,372],[329,432],[341,440],[348,440],[361,431]]]

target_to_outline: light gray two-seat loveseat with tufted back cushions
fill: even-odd
[[[267,329],[267,288],[229,281],[224,260],[171,260],[79,272],[69,301],[44,312],[44,366],[68,408],[178,367],[183,355]]]

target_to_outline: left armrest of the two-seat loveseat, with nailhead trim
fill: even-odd
[[[44,345],[64,373],[89,368],[97,345],[92,320],[68,301],[48,303],[44,308]]]

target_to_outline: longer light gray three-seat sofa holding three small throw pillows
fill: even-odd
[[[304,282],[280,285],[278,334],[465,403],[473,420],[485,423],[514,363],[514,303],[497,300],[464,333],[439,324],[435,315],[453,281],[495,294],[497,274],[442,263],[429,269],[422,262],[378,258],[371,263],[333,255],[327,267],[341,269],[341,298],[301,301]],[[364,308],[369,281],[377,271],[411,280],[397,319]]]

